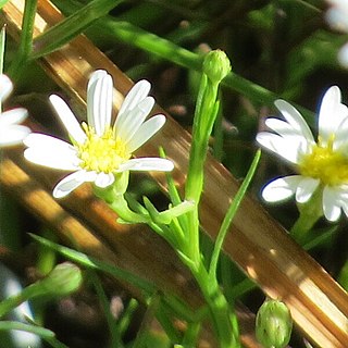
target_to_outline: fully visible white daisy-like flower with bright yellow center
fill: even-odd
[[[148,97],[150,83],[140,80],[133,86],[111,126],[112,77],[105,71],[92,73],[87,87],[87,121],[79,124],[69,105],[58,96],[50,101],[69,132],[72,144],[54,137],[33,133],[25,138],[27,160],[59,170],[73,171],[53,189],[53,197],[62,198],[85,182],[104,188],[114,183],[115,174],[125,171],[172,171],[170,160],[132,158],[144,142],[165,123],[158,114],[145,121],[153,108]]]

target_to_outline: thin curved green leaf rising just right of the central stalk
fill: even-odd
[[[224,221],[222,222],[222,225],[220,227],[220,231],[219,231],[215,244],[214,244],[212,257],[211,257],[210,268],[209,268],[209,273],[211,274],[211,276],[213,278],[216,277],[217,261],[219,261],[219,257],[220,257],[221,249],[222,249],[223,243],[225,240],[226,234],[229,229],[231,223],[232,223],[235,214],[237,213],[237,210],[241,203],[241,200],[247,192],[247,189],[251,183],[251,179],[256,173],[260,158],[261,158],[261,150],[258,150],[254,158],[253,158],[253,161],[250,165],[250,169],[247,173],[247,176],[244,179],[243,184],[240,185],[240,188],[238,189],[232,203],[229,204],[227,213],[226,213]]]

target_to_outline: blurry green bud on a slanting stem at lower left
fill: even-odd
[[[37,282],[41,295],[67,296],[76,291],[83,283],[83,275],[77,265],[71,262],[58,264],[44,279]]]

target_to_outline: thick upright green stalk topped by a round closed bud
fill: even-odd
[[[199,202],[203,191],[204,162],[209,137],[219,111],[219,86],[231,71],[229,60],[222,51],[211,51],[203,61],[203,74],[197,98],[192,144],[189,156],[185,199],[195,208],[187,213],[187,259],[202,295],[207,301],[221,348],[240,347],[238,324],[234,311],[222,293],[215,273],[207,271],[199,245]],[[219,254],[219,251],[216,252]],[[183,259],[185,262],[185,258]]]

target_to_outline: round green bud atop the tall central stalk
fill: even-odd
[[[231,72],[231,62],[221,50],[210,51],[203,61],[203,73],[213,84],[219,84]]]

